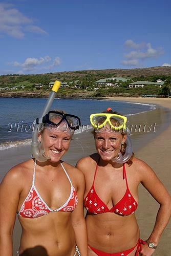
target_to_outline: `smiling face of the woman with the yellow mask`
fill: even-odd
[[[108,129],[108,131],[110,131]],[[111,161],[118,156],[121,144],[125,142],[126,135],[120,132],[95,132],[96,150],[103,161]]]

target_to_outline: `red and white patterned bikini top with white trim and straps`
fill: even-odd
[[[24,203],[22,204],[18,216],[24,218],[38,218],[44,215],[49,214],[50,212],[54,211],[73,211],[78,203],[77,193],[75,188],[72,185],[70,177],[68,176],[66,169],[63,167],[62,163],[60,163],[62,169],[64,170],[70,184],[71,184],[71,192],[68,200],[60,206],[58,209],[52,210],[46,202],[40,197],[34,183],[35,183],[35,168],[36,168],[36,161],[34,163],[34,172],[33,172],[33,181],[32,186],[30,188],[29,194],[26,197]]]

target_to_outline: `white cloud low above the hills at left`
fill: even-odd
[[[49,66],[44,66],[49,62]],[[51,62],[51,63],[50,63]],[[27,58],[23,63],[18,61],[8,62],[8,65],[12,65],[15,68],[22,68],[19,70],[21,74],[24,72],[36,72],[39,70],[51,70],[53,67],[59,66],[61,60],[59,57],[51,59],[50,56],[39,57],[39,58]]]

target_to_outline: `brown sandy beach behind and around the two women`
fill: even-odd
[[[156,110],[129,116],[130,128],[132,127],[131,140],[136,157],[144,160],[154,169],[155,173],[170,193],[171,174],[169,160],[171,153],[171,99],[110,98],[110,100],[111,99],[157,104]],[[148,125],[151,125],[151,131],[147,129]],[[63,160],[75,165],[78,159],[93,152],[95,152],[93,135],[90,131],[83,132],[74,136],[70,150],[66,156],[63,157]],[[30,156],[30,146],[19,146],[0,151],[0,157],[3,159],[1,160],[0,181],[3,179],[8,169],[19,162],[27,160]],[[139,186],[139,199],[140,203],[138,210],[136,211],[136,217],[141,231],[141,238],[145,240],[152,232],[159,205],[142,185]],[[168,224],[162,234],[159,246],[154,255],[170,255],[170,231],[171,226]],[[16,218],[13,233],[14,255],[16,255],[15,252],[19,246],[20,233],[21,228]]]

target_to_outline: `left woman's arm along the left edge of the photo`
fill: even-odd
[[[12,256],[12,233],[20,188],[17,167],[12,168],[0,185],[0,255]]]

